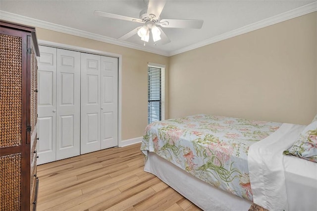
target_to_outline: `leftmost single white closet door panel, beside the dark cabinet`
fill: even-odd
[[[56,159],[56,49],[39,46],[37,164]]]

